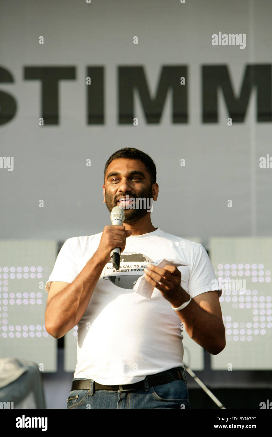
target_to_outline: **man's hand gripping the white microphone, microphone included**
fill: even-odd
[[[131,236],[132,231],[125,229],[124,209],[119,206],[112,208],[110,220],[112,225],[107,225],[103,229],[96,254],[105,264],[113,257],[113,265],[119,270],[120,267],[120,253],[124,251],[127,237]]]

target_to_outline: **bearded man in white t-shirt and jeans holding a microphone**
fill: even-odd
[[[78,325],[67,408],[190,408],[183,326],[211,354],[226,345],[210,259],[201,244],[155,228],[150,202],[130,208],[133,200],[158,198],[156,167],[146,153],[125,148],[110,156],[103,194],[110,212],[124,208],[123,225],[67,239],[45,286],[48,333],[60,338]],[[115,247],[118,271],[110,256]],[[163,259],[187,265],[157,267]],[[150,300],[133,290],[143,274],[154,286]]]

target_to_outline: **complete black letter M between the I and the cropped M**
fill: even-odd
[[[180,84],[180,78],[186,78],[186,84]],[[134,90],[138,95],[147,123],[159,123],[169,88],[172,90],[172,123],[187,123],[187,66],[163,66],[158,80],[155,98],[151,98],[148,83],[142,66],[118,67],[119,88],[119,124],[133,125]]]

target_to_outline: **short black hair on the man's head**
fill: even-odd
[[[119,159],[119,158],[127,158],[131,160],[140,160],[145,164],[146,170],[148,171],[151,179],[151,185],[155,184],[157,181],[157,171],[154,161],[151,157],[141,150],[134,149],[134,147],[125,147],[124,149],[117,150],[114,152],[109,159],[107,160],[104,168],[104,182],[105,176],[107,172],[107,168],[110,165],[111,161]]]

